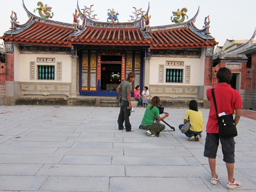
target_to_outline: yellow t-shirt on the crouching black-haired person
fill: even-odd
[[[201,111],[187,110],[184,119],[188,119],[190,122],[189,130],[194,132],[201,132],[204,129],[204,119]]]

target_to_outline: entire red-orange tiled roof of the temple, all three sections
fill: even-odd
[[[46,23],[34,22],[29,28],[17,34],[6,33],[1,37],[6,41],[20,44],[71,47],[72,44],[88,45],[124,45],[150,46],[151,49],[195,48],[215,46],[218,43],[213,37],[197,34],[187,27],[160,29],[150,31],[152,38],[145,38],[141,27],[102,28],[88,26],[79,35],[73,35],[73,29]],[[72,34],[72,35],[71,35]]]

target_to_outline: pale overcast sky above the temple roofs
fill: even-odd
[[[24,0],[24,4],[27,9],[33,13],[36,9],[38,0]],[[64,23],[73,23],[73,13],[77,6],[77,0],[43,0],[44,5],[52,7],[54,16],[52,20]],[[195,25],[198,29],[202,29],[204,26],[204,18],[209,15],[210,28],[209,32],[215,40],[219,42],[219,46],[223,46],[226,39],[246,40],[250,39],[252,33],[256,27],[255,13],[253,9],[256,8],[255,0],[180,0],[180,1],[163,1],[163,0],[129,0],[129,1],[113,1],[113,0],[91,0],[82,1],[78,0],[80,9],[84,6],[92,7],[93,14],[97,14],[95,18],[99,18],[99,22],[106,22],[108,18],[108,9],[114,9],[118,11],[119,23],[127,22],[130,19],[130,15],[134,15],[134,8],[146,11],[148,8],[148,2],[150,3],[150,26],[162,26],[172,25],[170,16],[173,16],[172,12],[177,9],[187,8],[186,14],[188,18],[192,18],[197,13],[200,6],[199,15],[197,16]],[[252,8],[252,9],[251,9]],[[26,11],[22,6],[22,0],[0,0],[0,36],[9,30],[11,27],[10,15],[11,11],[17,13],[17,22],[19,24],[25,24],[28,20]],[[39,16],[38,11],[33,13]],[[186,22],[187,19],[184,21]],[[3,40],[0,39],[0,44]]]

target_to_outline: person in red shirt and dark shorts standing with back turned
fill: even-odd
[[[241,117],[241,109],[243,108],[242,100],[239,92],[230,87],[232,73],[228,68],[220,68],[217,72],[217,86],[214,89],[218,113],[233,115],[236,110],[234,123],[237,125]],[[204,156],[208,157],[211,170],[211,184],[216,185],[219,179],[216,174],[216,155],[219,146],[219,140],[222,145],[223,161],[226,162],[228,182],[227,188],[237,188],[241,186],[239,181],[234,180],[234,138],[224,138],[219,135],[218,117],[215,111],[214,100],[212,99],[211,89],[206,91],[207,99],[210,101],[210,112],[208,122],[206,124],[206,138],[204,147]]]

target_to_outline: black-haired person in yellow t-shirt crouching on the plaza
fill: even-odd
[[[187,119],[189,119],[190,122],[189,130],[184,133],[188,137],[187,141],[199,141],[199,138],[202,137],[201,133],[204,129],[204,120],[203,114],[198,110],[197,101],[195,100],[191,100],[189,102],[189,110],[187,110],[185,113],[184,124],[187,122]],[[184,124],[179,125],[180,130]]]

